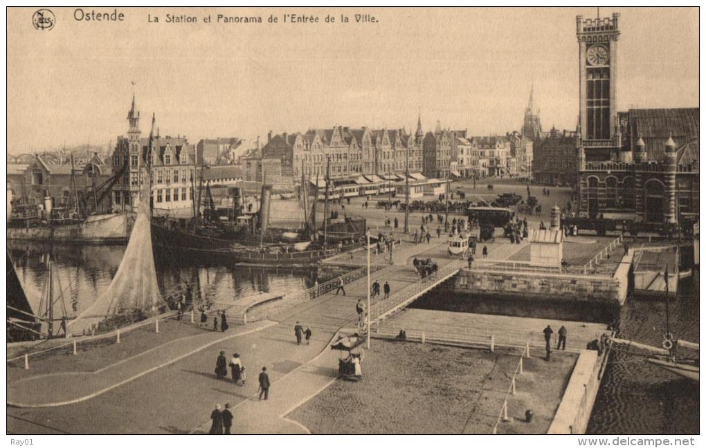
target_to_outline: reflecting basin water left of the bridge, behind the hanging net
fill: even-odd
[[[46,289],[49,245],[9,242],[28,301],[38,312]],[[105,291],[122,260],[125,246],[62,246],[54,248],[54,297],[64,297],[70,315],[88,308]],[[191,285],[194,298],[208,305],[232,304],[257,292],[293,293],[313,286],[316,269],[265,269],[218,265],[214,260],[155,251],[157,282],[162,296]]]

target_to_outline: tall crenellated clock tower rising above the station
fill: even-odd
[[[608,160],[620,147],[616,123],[618,18],[576,16],[580,131],[587,162]]]

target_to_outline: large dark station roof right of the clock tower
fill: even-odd
[[[630,109],[628,111],[630,139],[645,141],[648,160],[660,160],[664,155],[664,142],[671,138],[678,147],[699,137],[699,109]],[[634,143],[632,143],[634,145]],[[634,149],[634,148],[633,148]]]

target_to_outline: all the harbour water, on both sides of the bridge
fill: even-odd
[[[46,276],[43,255],[48,246],[15,243],[11,253],[18,277],[25,287],[32,308],[37,310]],[[56,286],[64,296],[67,313],[77,314],[88,308],[107,289],[115,274],[125,246],[56,246]],[[292,293],[313,286],[318,279],[316,269],[263,269],[219,265],[214,260],[194,260],[174,253],[155,253],[157,279],[164,296],[193,286],[196,299],[207,306],[232,303],[257,292]],[[671,332],[679,339],[699,340],[699,284],[695,277],[680,282],[676,299],[670,302]],[[55,297],[56,293],[55,293]],[[431,296],[426,297],[429,301]],[[569,320],[597,321],[619,317],[621,337],[659,346],[665,332],[666,303],[628,298],[619,311],[609,313],[580,310],[571,307],[566,316],[561,305],[518,307],[517,303],[497,298],[472,301],[479,313],[516,314],[527,317],[556,317]],[[505,309],[503,310],[503,306]],[[446,308],[449,308],[448,305]],[[429,304],[422,308],[429,308]],[[443,308],[443,307],[442,307]],[[515,313],[509,308],[514,308]],[[518,312],[521,308],[521,312]],[[449,309],[450,310],[450,309]],[[549,315],[548,315],[549,313]],[[570,335],[569,335],[570,337]],[[647,364],[644,358],[625,351],[616,351],[599,390],[588,426],[590,434],[685,434],[699,431],[698,383],[682,380],[665,370]]]

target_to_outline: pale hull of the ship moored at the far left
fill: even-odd
[[[128,213],[97,214],[86,218],[80,224],[54,226],[54,241],[63,243],[126,243],[128,241]],[[29,228],[9,227],[8,240],[49,241],[52,229],[49,226]]]

